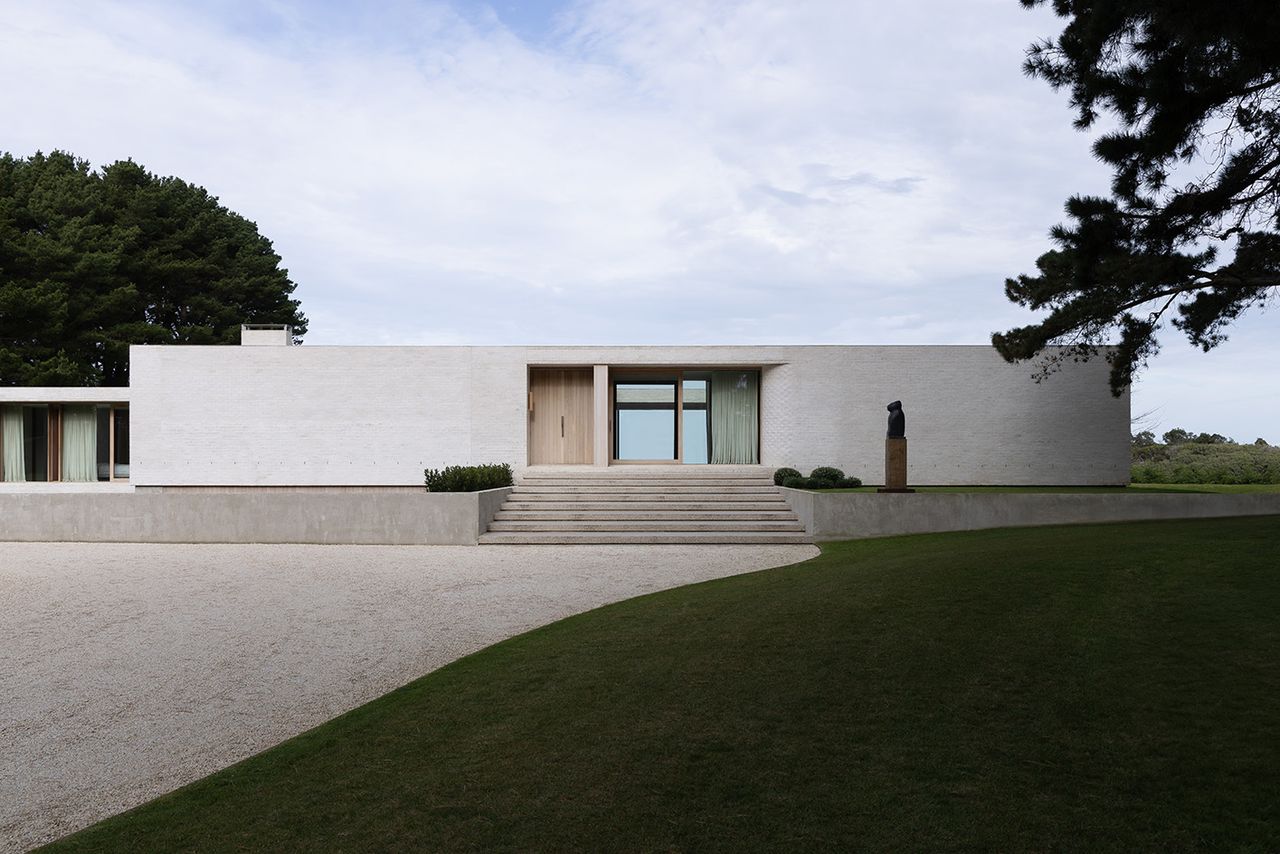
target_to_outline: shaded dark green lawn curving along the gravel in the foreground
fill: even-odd
[[[52,850],[1280,849],[1280,517],[826,545],[492,647]]]

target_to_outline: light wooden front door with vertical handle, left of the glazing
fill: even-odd
[[[529,465],[590,465],[595,437],[590,367],[529,371]]]

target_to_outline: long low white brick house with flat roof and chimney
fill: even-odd
[[[1102,361],[1036,383],[1030,366],[984,346],[285,341],[246,330],[246,344],[268,346],[133,347],[128,389],[0,388],[0,426],[18,429],[18,410],[27,424],[44,412],[42,470],[55,481],[79,453],[58,447],[70,407],[105,408],[100,483],[134,489],[417,487],[424,467],[479,462],[833,465],[878,483],[884,406],[901,399],[913,483],[1129,479],[1129,398],[1110,394]],[[27,447],[28,461],[40,453]],[[38,478],[5,480],[20,489]]]

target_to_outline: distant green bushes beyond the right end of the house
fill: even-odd
[[[1134,483],[1280,484],[1280,448],[1184,442],[1134,448]]]

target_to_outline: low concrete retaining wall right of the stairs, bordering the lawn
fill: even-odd
[[[815,540],[1027,525],[1280,515],[1280,494],[814,493],[782,489]]]

